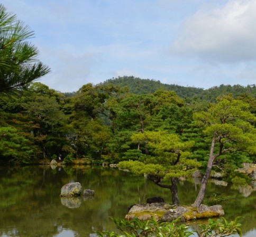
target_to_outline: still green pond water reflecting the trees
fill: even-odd
[[[77,208],[63,205],[60,189],[69,182],[93,189],[94,198],[81,197]],[[182,180],[178,188],[181,204],[190,205],[199,184]],[[243,216],[243,236],[256,236],[256,191],[209,182],[206,196],[213,193],[229,197],[222,203],[225,218],[233,220]],[[168,189],[117,168],[0,167],[0,236],[95,237],[95,231],[116,231],[109,217],[123,218],[127,207],[145,203],[152,196],[161,196],[171,203]]]

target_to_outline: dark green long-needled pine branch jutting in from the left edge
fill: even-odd
[[[28,42],[33,36],[28,26],[0,4],[0,93],[22,90],[50,71],[36,59],[39,51]]]

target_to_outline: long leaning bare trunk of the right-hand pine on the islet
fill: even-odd
[[[211,145],[211,150],[210,150],[210,155],[209,155],[209,159],[208,159],[208,163],[207,163],[206,172],[205,172],[205,175],[202,179],[201,187],[200,187],[199,193],[197,195],[196,201],[192,205],[193,207],[198,208],[204,200],[207,181],[208,181],[208,178],[209,178],[210,173],[212,171],[214,159],[217,157],[217,155],[215,155],[215,156],[213,155],[215,141],[216,141],[216,139],[215,139],[215,136],[214,136],[213,140],[212,140],[212,145]]]

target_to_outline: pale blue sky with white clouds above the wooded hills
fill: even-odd
[[[256,84],[256,0],[1,0],[34,31],[51,68],[39,82],[77,91],[124,75],[208,89]]]

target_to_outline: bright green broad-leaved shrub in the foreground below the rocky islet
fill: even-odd
[[[224,217],[221,219],[209,219],[208,224],[200,224],[199,231],[190,231],[189,226],[180,223],[180,217],[172,222],[159,222],[154,217],[148,221],[141,221],[135,218],[131,221],[112,218],[118,230],[123,234],[115,232],[97,232],[100,237],[224,237],[231,234],[239,234],[242,236],[240,229],[241,224],[238,221],[241,217],[236,217],[234,221],[228,222]]]

